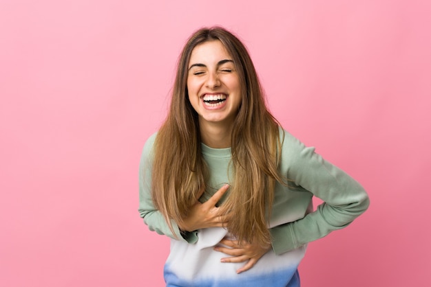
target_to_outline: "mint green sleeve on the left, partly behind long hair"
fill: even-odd
[[[139,214],[143,218],[149,230],[156,231],[158,234],[169,236],[176,240],[185,240],[189,243],[198,241],[198,231],[180,231],[174,220],[171,220],[174,233],[169,229],[163,215],[154,207],[151,198],[151,169],[153,159],[153,146],[156,134],[147,139],[143,148],[139,163]]]

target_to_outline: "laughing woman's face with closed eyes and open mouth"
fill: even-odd
[[[223,124],[231,127],[241,104],[238,72],[220,41],[208,41],[191,51],[187,89],[200,127]]]

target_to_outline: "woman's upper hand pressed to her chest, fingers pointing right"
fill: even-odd
[[[227,223],[227,216],[220,214],[220,207],[216,207],[215,205],[228,189],[228,184],[223,185],[205,203],[200,203],[199,200],[196,200],[195,205],[190,209],[189,216],[184,218],[182,224],[179,226],[180,229],[183,231],[193,231],[208,227],[223,227]]]

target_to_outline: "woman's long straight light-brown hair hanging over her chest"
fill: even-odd
[[[220,206],[229,215],[227,229],[238,240],[271,243],[271,215],[281,141],[279,123],[269,113],[257,73],[246,47],[222,27],[202,28],[187,41],[178,61],[169,114],[158,131],[152,168],[152,197],[169,227],[181,225],[198,194],[206,187],[198,115],[189,102],[187,67],[191,51],[207,41],[220,41],[233,58],[240,78],[242,102],[231,135],[231,187]]]

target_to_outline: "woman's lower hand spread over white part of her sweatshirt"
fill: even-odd
[[[269,246],[260,246],[260,244],[252,244],[252,243],[240,243],[236,240],[223,239],[219,244],[223,244],[229,247],[224,246],[215,246],[215,251],[220,251],[222,253],[226,253],[227,255],[231,255],[231,257],[222,258],[222,262],[246,262],[247,263],[242,266],[242,268],[238,269],[236,273],[240,274],[244,271],[249,270],[253,267],[257,261],[260,260],[266,252],[271,249],[271,245]]]

